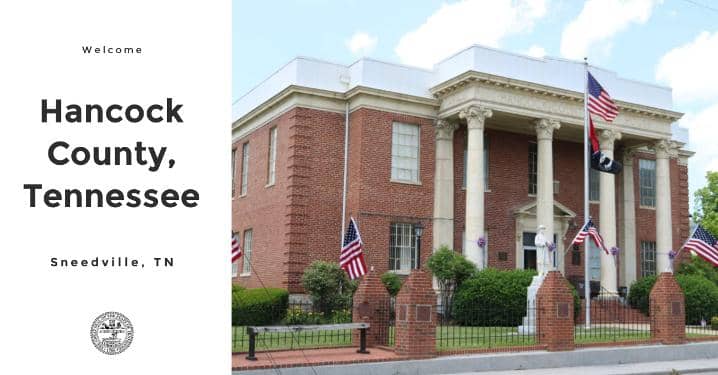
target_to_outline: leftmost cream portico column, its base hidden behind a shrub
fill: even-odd
[[[457,123],[436,120],[433,250],[454,248],[454,131]]]

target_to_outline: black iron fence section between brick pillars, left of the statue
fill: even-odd
[[[436,345],[440,351],[491,349],[536,344],[536,308],[455,306],[449,314],[437,306]]]

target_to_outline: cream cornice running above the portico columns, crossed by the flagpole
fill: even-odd
[[[534,95],[553,97],[558,100],[566,100],[572,102],[583,103],[583,93],[564,90],[556,87],[540,85],[532,82],[526,82],[492,74],[480,73],[476,71],[468,71],[458,75],[446,82],[440,83],[432,87],[429,91],[437,99],[463,88],[466,85],[483,83],[488,85],[511,88],[518,91],[529,92]],[[636,113],[648,117],[656,117],[670,121],[677,121],[683,114],[680,112],[669,111],[660,108],[644,106],[636,103],[624,102],[616,100],[616,104],[621,112]]]

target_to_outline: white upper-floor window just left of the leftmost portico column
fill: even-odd
[[[416,134],[409,134],[408,132],[402,133],[401,128],[409,129],[412,128],[415,130]],[[406,142],[406,137],[415,137],[416,138],[416,145],[412,144],[404,144]],[[404,143],[402,143],[402,139],[404,139]],[[408,148],[409,150],[405,149]],[[403,151],[409,151],[408,153],[411,153],[413,148],[413,157],[412,156],[405,156],[402,155],[405,152]],[[420,155],[421,155],[421,127],[417,124],[407,124],[403,122],[394,122],[392,123],[392,131],[391,131],[391,181],[393,182],[401,182],[401,183],[409,183],[409,184],[416,184],[418,185],[421,181],[420,176]],[[401,168],[398,166],[400,164],[400,161],[411,161],[411,159],[415,159],[415,165],[414,168],[416,169],[416,172],[413,173],[413,176],[410,178],[400,178],[399,173],[400,171],[409,171],[411,174],[414,171],[414,168]]]

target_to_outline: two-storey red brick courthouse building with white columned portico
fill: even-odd
[[[590,176],[590,214],[621,249],[593,249],[591,279],[615,292],[662,271],[689,235],[692,152],[669,88],[591,69],[620,107],[612,124],[594,121],[623,172]],[[301,293],[313,260],[338,261],[347,119],[346,216],[368,265],[407,274],[421,224],[422,264],[447,245],[479,267],[535,268],[543,224],[558,269],[581,278],[584,249],[570,242],[583,224],[583,72],[479,46],[433,70],[292,60],[233,107],[232,225],[245,250],[233,281]]]

